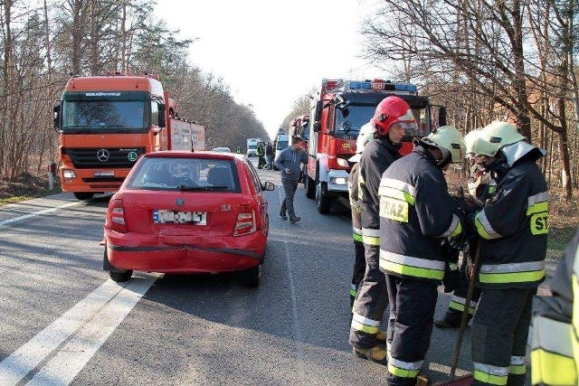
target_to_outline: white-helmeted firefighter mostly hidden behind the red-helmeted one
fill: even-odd
[[[362,243],[362,220],[360,213],[362,209],[358,202],[358,170],[360,168],[360,158],[368,142],[374,139],[375,128],[370,122],[360,128],[360,133],[356,139],[356,155],[352,156],[348,162],[354,164],[347,179],[348,193],[350,197],[350,210],[352,212],[352,238],[354,239],[354,251],[356,259],[354,261],[354,273],[350,284],[350,306],[354,306],[354,299],[358,285],[365,273],[364,244]]]

